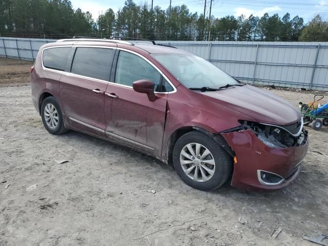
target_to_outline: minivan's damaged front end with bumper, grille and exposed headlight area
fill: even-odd
[[[236,156],[231,185],[276,190],[295,180],[309,146],[302,119],[285,126],[239,122],[240,127],[220,133]]]

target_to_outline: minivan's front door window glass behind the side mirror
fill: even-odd
[[[132,83],[139,79],[151,80],[155,84],[154,90],[156,92],[162,92],[162,89],[171,87],[169,83],[165,83],[165,86],[162,84],[161,74],[145,59],[126,51],[120,51],[116,66],[115,83],[132,87]]]

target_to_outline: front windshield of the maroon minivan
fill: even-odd
[[[240,85],[236,79],[199,56],[193,54],[151,55],[188,88]]]

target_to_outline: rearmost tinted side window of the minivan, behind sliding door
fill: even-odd
[[[43,66],[46,68],[64,71],[70,50],[71,47],[50,48],[43,50]]]

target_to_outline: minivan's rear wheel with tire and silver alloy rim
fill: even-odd
[[[41,105],[42,122],[48,132],[59,135],[67,132],[64,126],[63,114],[59,104],[53,96],[46,97]]]

